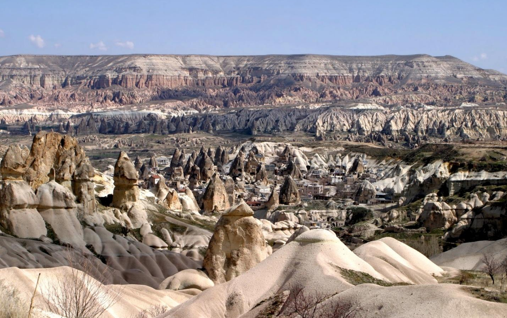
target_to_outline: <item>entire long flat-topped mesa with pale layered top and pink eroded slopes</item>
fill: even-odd
[[[0,105],[82,111],[167,99],[195,109],[369,97],[498,102],[507,75],[429,55],[18,55],[0,57],[0,80]]]

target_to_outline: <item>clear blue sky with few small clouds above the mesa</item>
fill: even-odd
[[[452,55],[507,73],[507,0],[4,0],[0,55]]]

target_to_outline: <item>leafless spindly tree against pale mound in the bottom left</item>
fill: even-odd
[[[105,286],[111,278],[109,267],[99,269],[92,258],[67,251],[69,270],[55,275],[43,293],[50,311],[67,318],[97,318],[118,302],[123,289]]]

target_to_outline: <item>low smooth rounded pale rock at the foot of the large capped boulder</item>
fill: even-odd
[[[167,277],[160,283],[158,289],[184,290],[194,288],[204,291],[213,286],[215,286],[213,281],[211,281],[202,270],[184,269]]]

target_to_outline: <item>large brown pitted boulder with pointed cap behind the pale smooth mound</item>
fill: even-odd
[[[225,283],[268,257],[262,223],[241,202],[227,210],[216,223],[203,266],[215,283]]]

